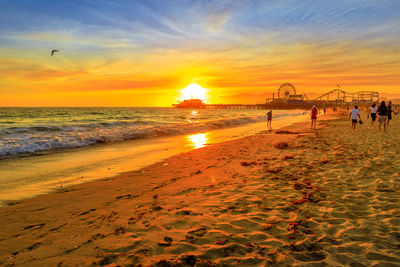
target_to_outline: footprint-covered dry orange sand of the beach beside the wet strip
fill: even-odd
[[[399,120],[344,117],[11,203],[0,265],[400,266]]]

